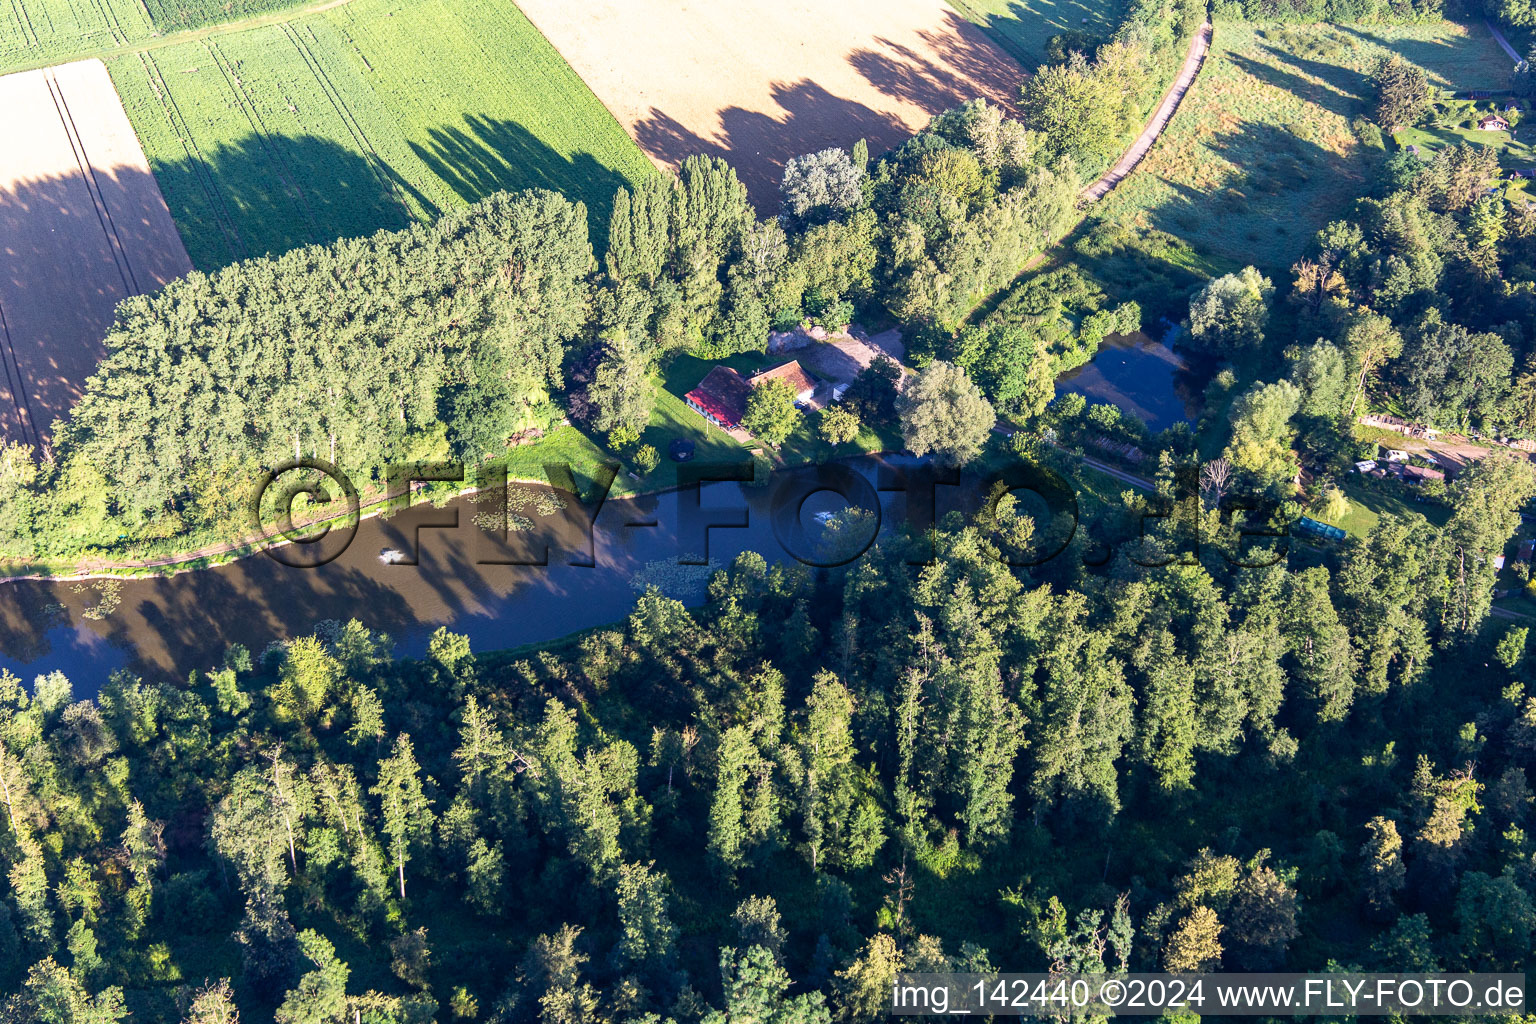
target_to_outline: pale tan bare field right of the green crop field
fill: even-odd
[[[1025,71],[942,0],[519,0],[651,160],[725,157],[766,213],[786,160],[1009,104]]]

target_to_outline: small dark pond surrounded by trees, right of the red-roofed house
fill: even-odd
[[[1141,332],[1106,338],[1092,362],[1057,379],[1057,395],[1066,391],[1118,405],[1154,431],[1193,421],[1200,395],[1183,356]]]

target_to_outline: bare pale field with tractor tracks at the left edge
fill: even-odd
[[[106,68],[0,77],[0,434],[46,445],[112,310],[192,270]]]

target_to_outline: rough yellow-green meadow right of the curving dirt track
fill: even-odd
[[[1355,138],[1350,121],[1367,112],[1369,75],[1387,52],[1418,63],[1442,89],[1499,89],[1508,75],[1482,25],[1223,21],[1167,132],[1094,216],[1284,275],[1384,157]]]

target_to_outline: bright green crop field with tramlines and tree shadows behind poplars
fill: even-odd
[[[653,173],[513,5],[352,0],[108,69],[203,270],[498,189],[564,192],[596,227]]]

